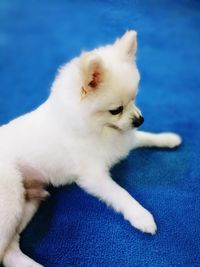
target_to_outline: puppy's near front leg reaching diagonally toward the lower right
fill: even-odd
[[[156,224],[153,216],[131,195],[116,184],[107,173],[89,174],[81,177],[77,184],[88,193],[98,197],[108,206],[123,214],[131,225],[142,232],[155,234]]]

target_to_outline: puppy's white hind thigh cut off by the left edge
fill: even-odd
[[[13,165],[0,163],[0,262],[16,234],[24,208],[21,174]]]

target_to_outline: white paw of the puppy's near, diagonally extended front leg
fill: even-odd
[[[154,218],[151,213],[145,209],[139,210],[137,214],[134,213],[133,218],[129,221],[135,228],[144,233],[152,235],[156,233],[157,226]]]

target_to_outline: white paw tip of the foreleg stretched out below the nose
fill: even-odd
[[[175,133],[162,133],[159,134],[159,143],[161,147],[174,148],[181,144],[182,140],[178,134]]]

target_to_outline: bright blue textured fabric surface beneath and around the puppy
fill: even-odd
[[[155,216],[142,234],[77,186],[51,188],[22,234],[45,267],[200,266],[200,2],[0,1],[0,123],[48,96],[56,69],[136,29],[143,130],[175,131],[173,151],[140,149],[113,178]]]

